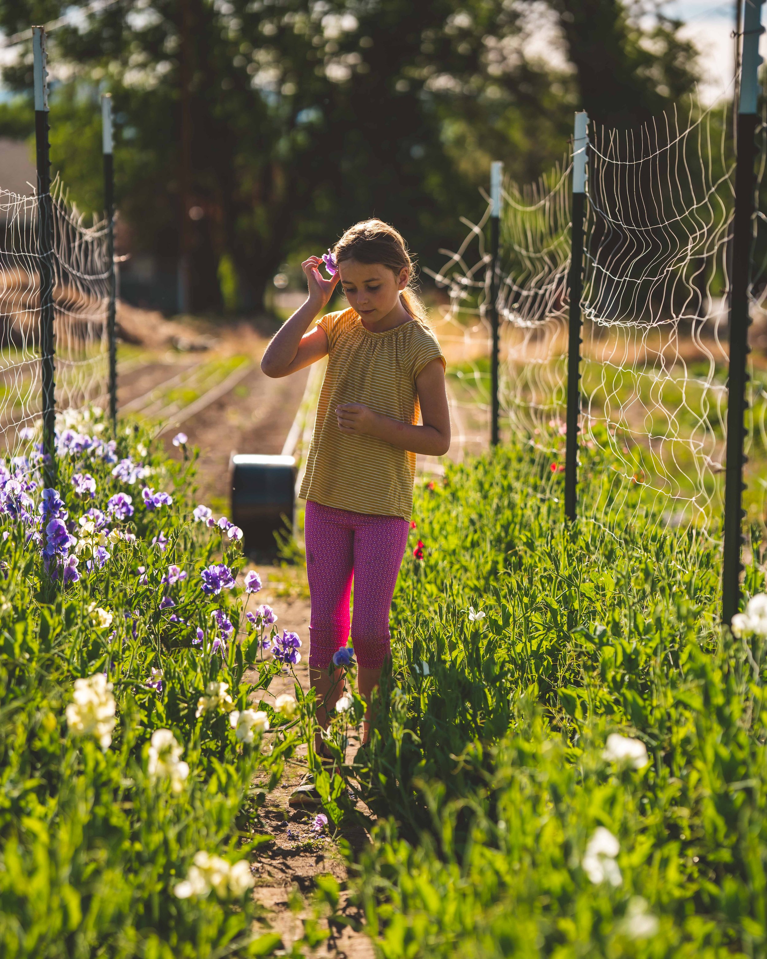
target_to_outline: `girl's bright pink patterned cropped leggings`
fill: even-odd
[[[312,596],[309,665],[327,669],[349,636],[361,667],[377,669],[391,654],[389,609],[407,545],[409,524],[398,516],[351,513],[306,504],[306,569]]]

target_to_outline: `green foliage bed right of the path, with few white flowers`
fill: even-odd
[[[582,456],[588,503],[603,464]],[[639,493],[569,526],[562,482],[509,447],[416,499],[424,559],[345,770],[380,816],[368,931],[387,959],[763,956],[767,667],[718,625],[716,530],[663,531]],[[646,764],[605,754],[616,733]],[[616,884],[590,872],[599,828]]]

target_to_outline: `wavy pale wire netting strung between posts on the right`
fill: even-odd
[[[707,521],[721,511],[723,490],[730,121],[716,105],[634,130],[590,128],[579,437],[589,454],[581,457],[579,510],[593,520],[608,507],[642,509],[663,526],[718,528]],[[533,186],[507,182],[500,223],[501,436],[523,437],[552,474],[564,470],[570,175],[563,165]],[[473,418],[475,434],[458,431],[468,448],[480,435],[486,445],[490,432],[488,217],[489,207],[480,222],[467,222],[463,245],[445,251],[447,263],[431,273],[450,296],[440,338],[461,344],[449,385],[464,421]],[[757,249],[766,226],[757,214]],[[752,287],[757,325],[761,315],[767,321],[765,271],[767,255]],[[749,504],[760,519],[767,369],[762,375],[759,363]]]

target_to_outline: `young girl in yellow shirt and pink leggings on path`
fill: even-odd
[[[390,655],[389,609],[407,545],[415,455],[448,452],[450,414],[445,359],[411,288],[413,265],[397,230],[380,220],[357,223],[326,256],[301,266],[309,296],[271,340],[261,368],[288,376],[329,358],[299,494],[307,501],[309,675],[317,718],[327,726],[343,686],[329,667],[349,636],[352,576],[351,636],[369,718]],[[348,309],[322,316],[307,333],[338,280]]]

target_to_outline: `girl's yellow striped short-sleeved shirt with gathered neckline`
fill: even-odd
[[[417,320],[371,333],[351,308],[317,321],[328,338],[328,366],[299,496],[324,506],[408,520],[415,454],[373,436],[341,433],[336,407],[362,403],[402,423],[418,422],[415,378],[445,358],[436,337]]]

